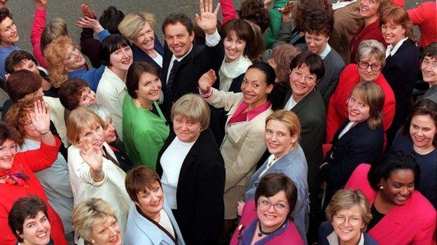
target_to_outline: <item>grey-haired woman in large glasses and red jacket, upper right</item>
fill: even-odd
[[[337,89],[329,99],[328,114],[326,115],[326,142],[333,141],[335,132],[346,121],[347,99],[352,89],[360,82],[374,82],[384,93],[384,107],[382,107],[384,132],[387,131],[394,117],[394,93],[381,73],[385,65],[384,46],[376,40],[364,40],[359,45],[356,54],[357,64],[349,64],[340,74]],[[385,142],[385,140],[384,140]]]

